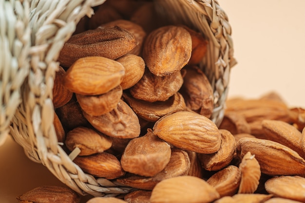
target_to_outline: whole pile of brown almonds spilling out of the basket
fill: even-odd
[[[207,39],[156,18],[152,1],[107,0],[60,52],[58,142],[84,172],[132,188],[88,203],[305,202],[305,110],[276,93],[234,98],[217,127],[213,90],[198,67]],[[18,201],[52,194],[80,201],[58,186]]]

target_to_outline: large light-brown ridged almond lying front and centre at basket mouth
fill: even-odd
[[[160,118],[153,134],[177,148],[210,154],[219,150],[221,134],[217,126],[203,115],[179,111]]]

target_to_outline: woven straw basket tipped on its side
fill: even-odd
[[[130,188],[95,178],[77,166],[57,142],[52,90],[57,57],[80,18],[105,0],[0,0],[0,140],[11,134],[33,161],[46,166],[80,194],[116,196]],[[220,124],[235,65],[228,17],[217,0],[155,0],[172,23],[196,28],[208,39],[200,68],[214,89],[211,120]]]

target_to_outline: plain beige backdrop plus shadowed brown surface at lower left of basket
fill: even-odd
[[[278,92],[305,107],[305,1],[219,0],[232,26],[235,57],[229,97]],[[0,147],[0,202],[39,185],[62,185],[46,167],[25,157],[11,138]],[[83,200],[85,202],[85,200]]]

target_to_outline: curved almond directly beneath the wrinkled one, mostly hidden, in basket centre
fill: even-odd
[[[124,93],[123,97],[139,117],[149,122],[156,122],[164,115],[184,111],[186,108],[183,96],[179,92],[175,93],[166,101],[156,102],[135,99],[128,93]]]

